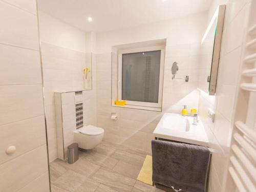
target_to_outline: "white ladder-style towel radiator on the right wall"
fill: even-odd
[[[250,3],[228,168],[240,192],[256,191],[256,1]]]

